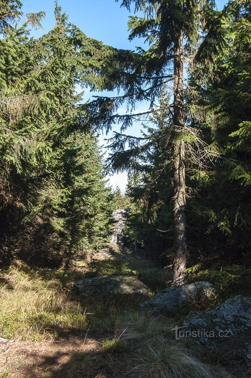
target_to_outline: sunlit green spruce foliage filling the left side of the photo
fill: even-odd
[[[21,5],[0,8],[1,259],[17,254],[58,264],[102,244],[111,199],[75,91],[92,73],[82,64],[80,31],[56,4],[54,28],[33,39],[28,24],[39,26],[43,13],[13,26]]]

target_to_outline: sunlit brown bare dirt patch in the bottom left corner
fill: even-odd
[[[83,370],[72,370],[72,355],[98,346],[98,341],[84,335],[59,341],[10,341],[0,344],[0,374],[6,378],[83,377]]]

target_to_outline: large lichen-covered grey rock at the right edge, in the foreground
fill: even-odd
[[[198,340],[208,349],[240,357],[251,367],[251,298],[238,295],[208,311],[191,311],[184,323],[186,335],[202,332]]]

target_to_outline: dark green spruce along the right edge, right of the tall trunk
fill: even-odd
[[[238,260],[250,248],[250,11],[249,2],[228,2],[221,25],[227,45],[191,67],[189,79],[193,122],[209,130],[210,148],[220,153],[216,167],[196,175],[204,196],[198,208]]]

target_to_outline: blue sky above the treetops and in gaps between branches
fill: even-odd
[[[136,46],[142,45],[142,41],[133,40],[128,41],[127,21],[129,12],[125,8],[120,8],[120,3],[115,0],[58,0],[59,5],[62,6],[63,11],[69,15],[69,21],[77,25],[89,37],[101,40],[106,45],[111,45],[116,48],[134,50]],[[218,9],[222,9],[225,5],[225,0],[216,0]],[[48,32],[53,28],[54,20],[54,0],[23,0],[23,12],[38,12],[46,11],[46,19],[43,20],[42,30],[32,31],[32,35],[37,37],[42,33]],[[133,7],[132,7],[133,10]],[[85,91],[85,99],[91,97],[92,94],[88,90]],[[140,104],[138,110],[146,109],[146,104]],[[123,109],[121,109],[123,112]],[[118,130],[118,127],[116,127]],[[134,125],[130,134],[139,135],[139,125]],[[111,136],[109,133],[108,136]],[[107,136],[100,136],[100,146],[105,146]],[[105,151],[105,148],[104,148]],[[110,184],[124,190],[127,183],[126,173],[115,174],[109,177]]]

